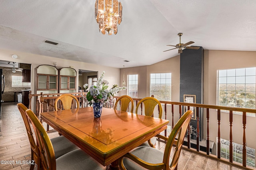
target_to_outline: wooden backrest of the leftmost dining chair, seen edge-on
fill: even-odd
[[[36,164],[38,164],[38,147],[36,146],[36,142],[33,137],[33,132],[30,127],[30,123],[28,121],[28,116],[26,115],[26,110],[28,108],[26,106],[24,106],[24,104],[22,104],[22,103],[18,103],[17,107],[22,115],[22,118],[23,118],[23,121],[24,121],[24,124],[26,127],[26,131],[28,133],[28,139],[29,139],[30,147],[31,147],[31,158],[33,160],[35,160]]]

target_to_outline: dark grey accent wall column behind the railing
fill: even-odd
[[[180,102],[184,102],[184,95],[195,95],[197,104],[203,104],[204,87],[204,49],[184,49],[180,54]],[[192,109],[192,108],[190,108]],[[182,108],[184,112],[184,108]],[[194,108],[193,110],[196,110]],[[200,141],[203,138],[202,110],[199,110],[199,133]],[[196,133],[196,113],[194,119],[191,119],[190,125]],[[195,134],[191,134],[191,139],[196,139]]]

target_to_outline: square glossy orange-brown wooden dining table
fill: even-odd
[[[102,108],[94,118],[92,107],[41,113],[41,118],[64,137],[110,170],[118,158],[167,128],[168,120]]]

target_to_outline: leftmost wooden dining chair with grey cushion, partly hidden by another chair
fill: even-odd
[[[17,107],[22,115],[26,131],[28,133],[28,139],[30,142],[31,147],[31,160],[35,160],[35,163],[38,165],[39,157],[38,157],[38,147],[36,142],[34,141],[33,137],[33,131],[30,127],[30,123],[28,121],[28,116],[26,115],[26,110],[28,109],[24,104],[18,103]],[[35,114],[34,114],[35,115]],[[38,120],[39,121],[39,120]],[[63,136],[55,137],[51,139],[54,151],[55,151],[55,158],[58,158],[62,156],[63,154],[66,154],[72,150],[78,149],[76,145],[74,145],[72,142],[70,142],[68,139],[66,139]],[[31,164],[30,170],[34,169],[34,164]]]

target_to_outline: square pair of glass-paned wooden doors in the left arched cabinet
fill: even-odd
[[[57,75],[37,74],[37,90],[57,90],[57,78]]]

